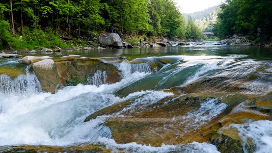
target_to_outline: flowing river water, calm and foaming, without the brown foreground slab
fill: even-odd
[[[213,144],[195,141],[178,145],[161,144],[159,147],[135,142],[117,143],[112,139],[111,129],[103,124],[108,118],[148,110],[164,98],[167,98],[165,105],[170,104],[178,97],[171,98],[174,94],[162,89],[189,85],[205,77],[228,78],[219,82],[214,91],[229,92],[225,86],[233,85],[241,89],[238,93],[246,95],[261,96],[272,92],[271,48],[195,45],[69,53],[112,57],[101,58],[101,61],[113,63],[122,79],[107,84],[106,72],[98,70],[87,81],[91,85],[69,86],[55,94],[42,91],[32,67],[22,64],[22,59],[0,59],[0,67],[21,71],[16,76],[0,74],[0,146],[89,143],[105,145],[113,151],[219,152]],[[115,58],[117,56],[123,58]],[[130,105],[121,111],[84,122],[96,111],[126,100],[130,101]],[[199,108],[172,120],[177,121],[184,132],[195,131],[227,108],[228,105],[219,99],[210,98],[202,101]],[[243,151],[251,152],[246,143],[247,139],[252,139],[254,151],[269,152],[272,149],[271,124],[269,120],[252,120],[231,124],[230,128],[237,129],[244,142]]]

